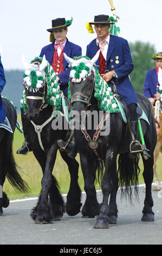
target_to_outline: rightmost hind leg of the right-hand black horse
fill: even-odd
[[[146,193],[145,193],[145,201],[144,201],[144,209],[142,210],[142,218],[141,221],[154,221],[154,213],[152,211],[153,207],[153,199],[151,192],[151,185],[153,181],[153,154],[148,160],[145,160],[142,157],[144,163],[144,181],[146,185]]]

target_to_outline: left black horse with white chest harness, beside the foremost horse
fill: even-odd
[[[45,75],[44,68],[42,68],[43,63],[45,63],[45,68],[47,66],[46,58],[43,58],[43,60],[36,58],[32,64],[27,65],[26,63],[25,65],[25,74],[27,74],[27,70],[29,70],[29,80],[31,79],[31,81],[33,79],[30,72],[32,68],[39,71],[41,70],[40,72],[42,72],[42,75],[44,76],[43,86],[33,90],[31,86],[28,87],[27,82],[24,83],[24,95],[27,104],[25,130],[27,131],[28,141],[30,142],[33,154],[43,172],[41,181],[42,190],[36,207],[31,210],[31,217],[38,224],[60,220],[64,211],[70,216],[76,215],[80,212],[81,208],[81,190],[77,182],[79,163],[77,163],[75,159],[70,158],[66,153],[60,152],[62,159],[68,165],[71,179],[66,205],[64,205],[63,198],[59,192],[59,184],[52,175],[58,149],[57,140],[66,139],[68,130],[53,129],[53,121],[56,117],[51,118],[51,115],[55,106],[45,103],[46,98],[48,97],[49,86],[47,84],[47,74]],[[67,99],[66,103],[67,105],[69,104]],[[60,111],[60,113],[63,113],[62,103]],[[49,118],[51,119],[49,120]],[[63,120],[64,117],[62,117],[62,121]],[[43,127],[40,133],[40,139],[38,139],[36,129],[37,131],[40,131],[41,125],[46,121],[47,124]],[[34,125],[37,125],[36,128]]]

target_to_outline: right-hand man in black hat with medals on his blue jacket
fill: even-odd
[[[127,40],[109,33],[112,24],[108,15],[95,16],[94,22],[87,23],[86,27],[89,33],[93,33],[92,25],[94,25],[97,38],[87,45],[86,56],[92,59],[96,52],[101,50],[96,66],[112,90],[111,80],[114,80],[117,93],[127,105],[129,120],[135,136],[138,130],[137,97],[129,79],[129,74],[134,68],[133,60]],[[139,151],[142,151],[140,143],[137,141],[131,143],[131,154],[135,153],[136,155]]]

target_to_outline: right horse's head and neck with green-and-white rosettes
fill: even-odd
[[[100,110],[110,113],[119,112],[111,87],[103,80],[95,66],[99,54],[100,50],[92,60],[86,56],[74,60],[64,53],[64,58],[72,66],[69,79],[69,101],[76,111],[87,109],[87,106],[93,102]]]

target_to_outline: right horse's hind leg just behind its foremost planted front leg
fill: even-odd
[[[108,223],[109,224],[116,224],[117,217],[118,217],[118,208],[116,204],[116,194],[118,191],[118,174],[116,172],[116,167],[112,174],[112,181],[113,181],[113,189],[110,194],[109,199],[109,213],[108,213]]]

